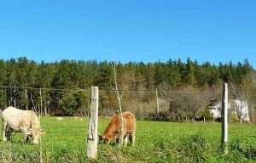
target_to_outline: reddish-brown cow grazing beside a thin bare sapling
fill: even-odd
[[[100,140],[104,143],[111,143],[113,140],[119,141],[120,137],[120,123],[119,123],[119,115],[114,115],[105,132],[100,135]],[[130,111],[123,112],[123,136],[124,145],[128,143],[128,140],[131,142],[133,146],[136,138],[136,119],[135,115],[133,115]]]

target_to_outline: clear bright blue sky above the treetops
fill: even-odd
[[[256,67],[255,1],[0,3],[0,58],[200,63],[249,59]]]

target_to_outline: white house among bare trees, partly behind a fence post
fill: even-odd
[[[221,118],[221,109],[222,103],[217,100],[212,100],[209,110],[213,118]],[[241,121],[250,121],[247,101],[242,101],[237,98],[229,100],[228,110],[230,114],[235,114],[240,117]]]

